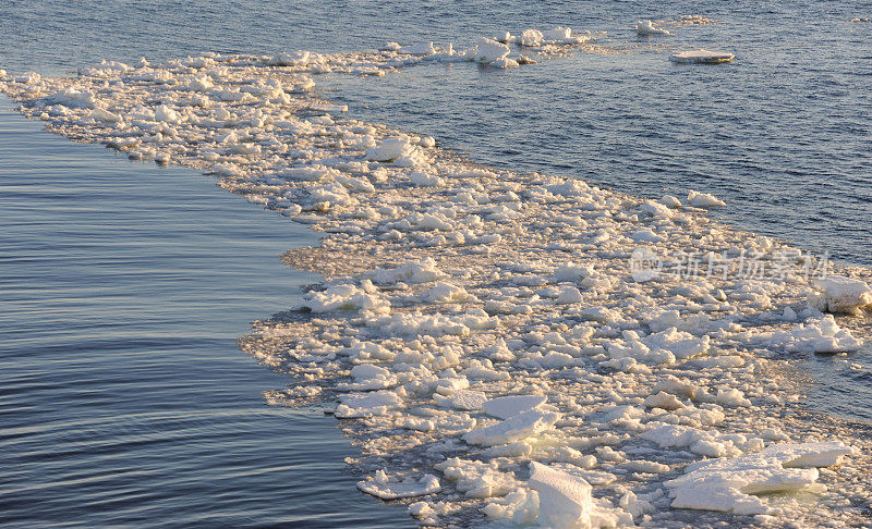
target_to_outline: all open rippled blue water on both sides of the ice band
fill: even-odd
[[[683,14],[718,24],[665,39],[630,29]],[[841,1],[13,0],[0,5],[0,67],[64,74],[105,58],[607,30],[601,41],[623,52],[318,85],[351,116],[432,134],[476,161],[634,195],[714,193],[734,225],[872,266],[872,24],[848,22],[869,16],[870,4]],[[698,47],[737,61],[668,61]],[[235,346],[249,321],[293,304],[306,276],[276,256],[311,235],[193,172],[130,164],[38,128],[0,115],[3,517],[409,524],[351,490],[331,419],[264,406],[259,392],[284,381]],[[863,371],[828,357],[809,371],[824,409],[870,418]]]

